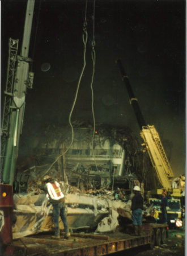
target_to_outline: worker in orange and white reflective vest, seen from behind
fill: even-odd
[[[39,185],[39,188],[46,191],[49,197],[49,202],[53,205],[53,224],[54,224],[54,236],[53,238],[59,237],[59,216],[63,222],[65,228],[65,238],[70,237],[70,232],[66,218],[66,205],[65,196],[63,195],[60,185],[57,181],[54,181],[52,177],[46,175],[43,179],[44,186]]]

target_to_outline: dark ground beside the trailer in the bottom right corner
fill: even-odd
[[[120,253],[110,254],[114,255],[128,255],[128,256],[185,256],[185,231],[178,229],[168,230],[168,238],[164,245],[155,246],[150,250],[148,246],[134,248]]]

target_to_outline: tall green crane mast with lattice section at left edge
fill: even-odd
[[[22,134],[25,94],[32,88],[33,72],[29,71],[28,57],[35,0],[28,0],[25,14],[23,42],[18,55],[19,40],[9,40],[9,55],[5,102],[1,120],[1,182],[13,184],[19,138]]]

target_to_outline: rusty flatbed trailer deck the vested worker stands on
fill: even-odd
[[[68,240],[52,238],[52,234],[37,234],[13,241],[13,255],[61,255],[61,256],[101,256],[128,250],[134,247],[155,245],[165,242],[167,224],[143,224],[142,236],[131,236],[127,233],[108,234],[71,233]]]

